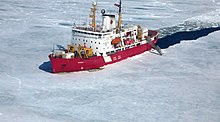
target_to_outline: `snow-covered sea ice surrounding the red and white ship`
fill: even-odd
[[[98,10],[116,12],[117,0],[98,2]],[[123,3],[125,23],[164,36],[220,23],[219,0]],[[85,22],[90,6],[76,0],[0,1],[1,122],[220,121],[220,31],[183,40],[163,49],[163,56],[146,52],[97,72],[40,69],[53,44],[71,41],[70,25]]]

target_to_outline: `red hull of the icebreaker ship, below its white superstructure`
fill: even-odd
[[[157,39],[152,41],[154,44],[157,42]],[[95,56],[88,59],[81,58],[57,58],[49,55],[50,62],[52,65],[53,73],[58,72],[73,72],[73,71],[83,71],[83,70],[91,70],[98,69],[108,64],[116,63],[118,61],[127,59],[128,57],[132,57],[138,54],[141,54],[145,51],[151,50],[152,46],[149,43],[142,44],[136,47],[132,47],[129,49],[125,49],[123,51],[116,52],[114,54],[109,55],[108,58],[111,58],[110,61],[105,61],[104,56]]]

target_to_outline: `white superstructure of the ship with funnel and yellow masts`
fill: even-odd
[[[117,50],[124,50],[125,48],[146,43],[147,29],[143,31],[140,26],[123,27],[121,26],[120,16],[116,26],[115,15],[105,14],[104,9],[102,10],[102,24],[96,26],[94,21],[95,10],[96,3],[93,3],[93,8],[91,8],[92,15],[90,15],[92,23],[89,27],[73,27],[72,45],[91,48],[95,55],[107,55]]]

